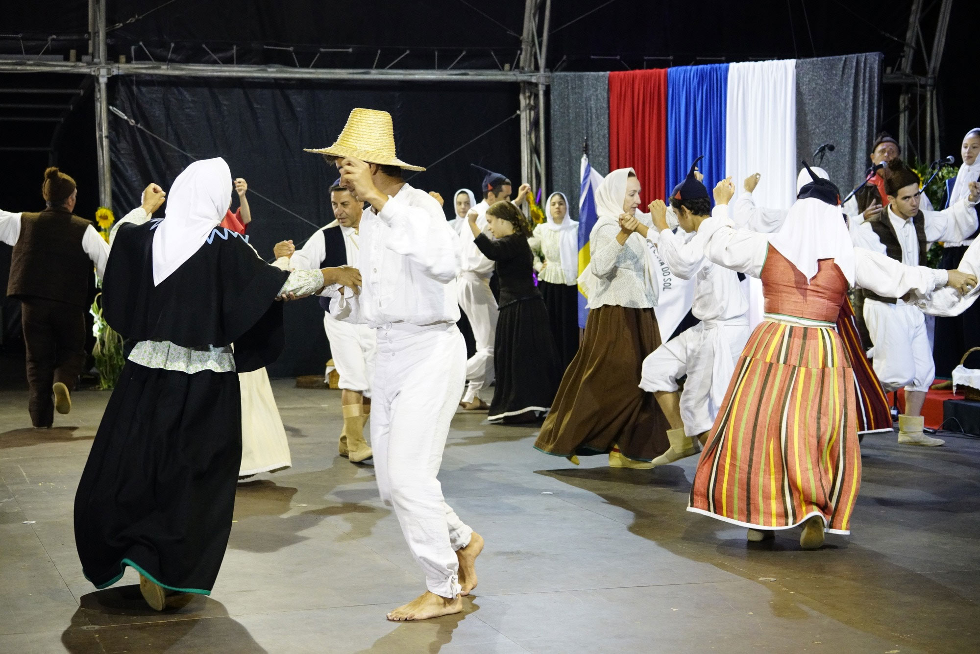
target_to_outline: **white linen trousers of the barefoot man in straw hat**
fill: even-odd
[[[397,323],[377,329],[370,413],[374,474],[425,585],[460,592],[456,550],[473,531],[443,499],[437,475],[466,374],[466,344],[455,324]]]

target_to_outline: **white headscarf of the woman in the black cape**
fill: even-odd
[[[200,250],[230,204],[231,169],[221,157],[191,163],[177,175],[167,217],[153,235],[154,286]]]

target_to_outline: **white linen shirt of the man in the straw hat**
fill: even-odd
[[[361,294],[336,285],[323,292],[335,317],[376,329],[460,319],[460,239],[427,193],[404,184],[380,212],[365,210],[360,245]]]

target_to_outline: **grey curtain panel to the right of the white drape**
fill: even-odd
[[[880,52],[872,52],[797,60],[797,158],[812,164],[820,144],[837,146],[827,153],[823,167],[843,194],[858,184],[870,165],[867,156],[878,122],[883,59]]]

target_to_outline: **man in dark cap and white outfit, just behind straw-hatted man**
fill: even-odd
[[[480,188],[483,200],[473,206],[469,212],[476,213],[476,226],[488,238],[493,238],[487,226],[486,212],[490,205],[496,202],[506,202],[511,199],[511,180],[486,168],[472,164],[484,172]],[[522,184],[515,204],[523,202],[530,192],[530,186]],[[468,213],[467,213],[468,215]],[[473,340],[476,341],[476,352],[466,361],[466,392],[460,405],[468,411],[486,410],[490,408],[480,391],[488,388],[494,380],[493,344],[497,334],[497,301],[490,290],[490,276],[493,275],[494,262],[484,257],[475,243],[472,232],[466,220],[456,223],[457,233],[463,241],[463,266],[459,278],[459,303],[469,319],[473,330]]]

